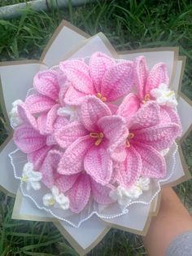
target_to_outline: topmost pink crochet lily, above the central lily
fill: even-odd
[[[133,62],[116,64],[102,52],[91,55],[89,65],[84,60],[68,60],[59,67],[72,82],[65,96],[67,104],[80,104],[85,95],[95,95],[108,104],[126,95],[133,86]]]

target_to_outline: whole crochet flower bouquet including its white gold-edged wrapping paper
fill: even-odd
[[[2,63],[12,218],[53,221],[81,255],[110,227],[145,235],[161,188],[190,178],[184,66],[177,48],[117,53],[66,21],[41,60]]]

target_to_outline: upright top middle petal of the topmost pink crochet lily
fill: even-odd
[[[89,60],[89,72],[94,83],[95,91],[101,92],[102,79],[107,72],[107,69],[115,65],[115,60],[102,52],[95,52]]]

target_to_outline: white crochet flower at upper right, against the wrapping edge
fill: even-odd
[[[161,83],[158,88],[152,89],[150,93],[159,105],[166,105],[171,108],[177,106],[177,99],[174,91],[169,90],[168,85],[164,83]]]

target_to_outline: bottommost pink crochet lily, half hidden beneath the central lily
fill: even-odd
[[[99,204],[107,205],[111,203],[109,192],[111,188],[96,183],[89,174],[81,171],[78,174],[62,175],[57,172],[62,153],[58,150],[50,150],[42,166],[42,182],[48,187],[56,186],[59,192],[68,196],[70,209],[78,214],[88,204],[92,198]]]

